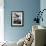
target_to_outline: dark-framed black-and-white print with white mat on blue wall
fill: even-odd
[[[24,11],[12,11],[11,12],[11,26],[23,26],[24,25]]]

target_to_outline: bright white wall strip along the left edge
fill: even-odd
[[[0,42],[4,41],[4,0],[0,0]]]

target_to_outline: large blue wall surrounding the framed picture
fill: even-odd
[[[11,11],[24,11],[24,26],[11,27]],[[40,10],[40,0],[4,0],[4,38],[18,41],[32,29],[32,21]]]

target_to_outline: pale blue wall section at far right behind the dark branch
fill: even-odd
[[[43,9],[46,9],[46,0],[41,0],[40,1],[40,9],[41,9],[41,11],[43,10]],[[41,21],[40,22],[40,25],[42,25],[42,26],[45,26],[46,27],[46,10],[43,12],[43,15],[42,15],[42,17],[43,17],[43,22]]]

